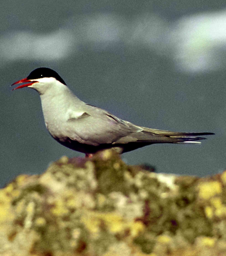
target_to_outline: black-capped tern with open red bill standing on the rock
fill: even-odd
[[[122,120],[110,112],[89,105],[76,97],[56,71],[34,69],[14,88],[28,87],[41,98],[45,125],[60,144],[92,157],[97,151],[112,148],[118,154],[156,143],[200,143],[211,132],[173,132],[142,127]]]

